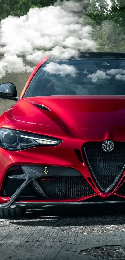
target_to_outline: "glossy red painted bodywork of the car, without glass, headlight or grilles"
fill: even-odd
[[[48,58],[49,56],[42,59],[34,69],[17,103],[2,114],[0,127],[55,137],[62,139],[63,142],[57,147],[35,147],[21,151],[7,151],[0,148],[0,189],[7,170],[14,165],[64,166],[78,170],[95,194],[78,199],[32,200],[32,202],[77,202],[97,195],[108,198],[113,194],[125,197],[118,194],[125,172],[112,192],[100,192],[82,154],[83,144],[89,141],[112,139],[125,142],[125,96],[80,95],[23,99],[33,76]],[[34,104],[43,104],[50,111],[41,110]],[[80,150],[83,163],[79,161],[75,149]],[[0,203],[5,203],[9,199],[0,197]]]

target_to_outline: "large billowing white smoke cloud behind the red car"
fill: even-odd
[[[48,54],[69,58],[78,56],[78,51],[96,51],[96,42],[91,38],[92,27],[83,26],[81,10],[81,4],[64,1],[55,6],[30,9],[19,18],[9,16],[2,20],[0,78],[6,72],[32,71]],[[34,65],[27,67],[27,62]]]

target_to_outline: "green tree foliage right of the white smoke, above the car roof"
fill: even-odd
[[[112,0],[110,8],[106,1],[92,0],[83,16],[83,24],[92,26],[97,51],[125,52],[124,0]]]

